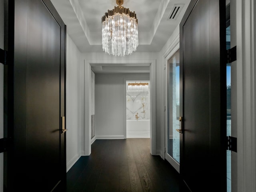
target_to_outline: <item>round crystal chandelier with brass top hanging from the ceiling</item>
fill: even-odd
[[[137,16],[124,8],[123,2],[116,0],[118,6],[102,17],[102,48],[114,56],[132,54],[138,46]]]

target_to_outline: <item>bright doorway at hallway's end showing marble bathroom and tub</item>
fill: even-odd
[[[150,81],[126,81],[126,138],[150,138]]]

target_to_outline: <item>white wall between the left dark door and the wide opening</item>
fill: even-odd
[[[66,160],[68,171],[81,156],[81,132],[84,124],[82,113],[84,79],[81,74],[84,65],[81,53],[68,34],[66,55],[66,128],[68,129],[66,132]]]

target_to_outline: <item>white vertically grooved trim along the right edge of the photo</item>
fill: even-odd
[[[235,125],[237,128],[238,192],[256,191],[255,9],[255,0],[236,0],[237,60],[234,63],[236,64],[236,92],[232,94],[235,98],[234,102],[237,111],[236,116],[232,114],[232,118],[237,119],[237,124]],[[233,65],[233,63],[231,65]],[[233,98],[231,98],[231,100],[233,100]],[[236,134],[232,135],[235,136]]]

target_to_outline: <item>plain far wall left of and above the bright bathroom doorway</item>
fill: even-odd
[[[126,138],[125,80],[149,80],[149,74],[95,75],[96,139]]]

